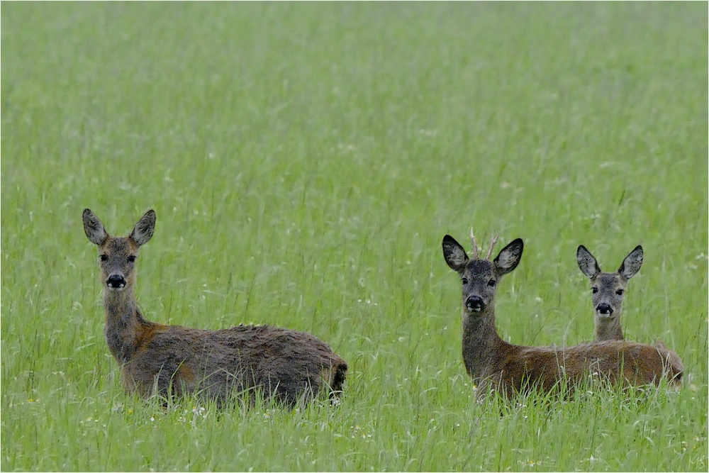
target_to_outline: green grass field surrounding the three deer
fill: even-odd
[[[4,3],[1,469],[707,471],[707,16]],[[148,318],[310,331],[350,364],[342,404],[126,394],[84,207],[118,235],[157,212]],[[624,330],[683,389],[476,404],[441,251],[471,226],[525,241],[496,304],[524,345],[593,338],[580,243],[606,270],[642,244]]]

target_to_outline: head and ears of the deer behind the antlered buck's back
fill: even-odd
[[[625,257],[618,272],[602,272],[596,258],[584,245],[579,245],[576,250],[576,261],[581,272],[591,280],[591,301],[596,316],[609,320],[620,317],[627,283],[642,266],[642,246],[637,245]]]

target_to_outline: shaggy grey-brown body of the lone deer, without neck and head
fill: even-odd
[[[261,390],[289,406],[323,390],[342,391],[347,365],[308,333],[269,325],[197,330],[151,324],[121,367],[123,384],[142,396],[199,394],[223,403]],[[255,394],[255,393],[254,393]],[[253,399],[253,396],[252,396]]]

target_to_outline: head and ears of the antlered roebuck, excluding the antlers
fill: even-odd
[[[443,237],[443,257],[460,274],[463,305],[470,315],[479,314],[495,299],[497,284],[522,257],[521,238],[502,249],[493,260],[470,260],[463,247],[450,235]]]

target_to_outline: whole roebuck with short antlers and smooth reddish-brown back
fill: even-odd
[[[518,238],[490,261],[478,258],[475,238],[473,259],[450,235],[443,237],[443,256],[462,279],[463,361],[478,395],[497,389],[508,397],[532,386],[550,391],[567,383],[570,389],[597,373],[601,379],[623,384],[659,384],[664,377],[681,384],[682,362],[675,352],[652,345],[620,340],[571,347],[525,347],[503,341],[495,327],[495,293],[501,277],[520,262],[523,241]]]

